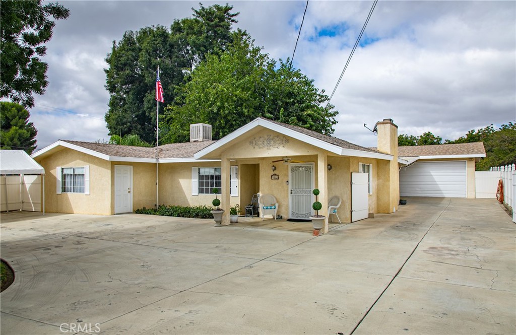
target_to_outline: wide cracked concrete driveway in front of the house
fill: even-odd
[[[513,334],[516,225],[409,198],[328,234],[212,220],[2,214],[1,333]]]

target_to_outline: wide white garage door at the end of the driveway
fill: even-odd
[[[416,162],[399,171],[405,197],[466,197],[466,162]]]

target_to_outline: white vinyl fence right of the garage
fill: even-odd
[[[512,220],[516,222],[516,165],[496,166],[489,171],[475,172],[475,197],[496,199],[498,181],[504,185],[504,204],[512,208]]]

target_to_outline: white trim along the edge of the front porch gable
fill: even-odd
[[[229,143],[230,141],[236,139],[238,136],[241,136],[248,131],[254,129],[257,126],[262,126],[266,129],[270,129],[272,131],[276,131],[281,134],[285,134],[286,136],[298,139],[300,141],[303,141],[305,143],[309,143],[313,146],[319,147],[321,149],[327,150],[329,152],[343,155],[343,156],[358,156],[358,157],[371,157],[371,158],[380,158],[380,159],[388,159],[392,160],[393,156],[382,154],[382,153],[375,153],[375,152],[368,152],[368,151],[361,151],[361,150],[353,150],[353,149],[346,149],[342,148],[340,146],[333,145],[331,143],[328,143],[326,141],[320,140],[318,138],[312,137],[310,135],[306,135],[300,132],[297,132],[295,130],[289,129],[287,127],[284,127],[282,125],[279,125],[277,123],[262,119],[262,118],[256,118],[249,122],[248,124],[241,126],[231,134],[228,134],[215,143],[207,146],[206,148],[199,150],[197,153],[193,155],[196,159],[202,158],[203,156],[207,155],[208,153],[215,151],[219,149],[220,147],[224,146],[225,144]]]

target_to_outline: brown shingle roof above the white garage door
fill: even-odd
[[[433,146],[398,147],[399,157],[444,156],[444,155],[485,155],[482,142],[440,144]]]

